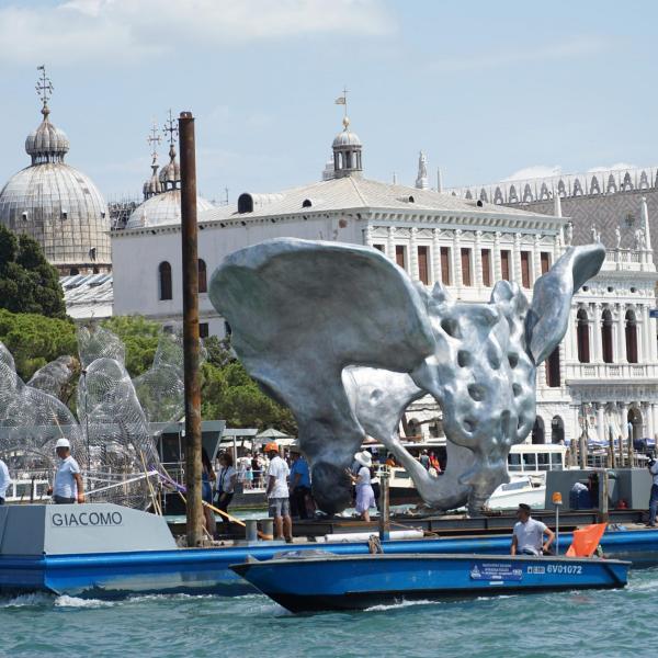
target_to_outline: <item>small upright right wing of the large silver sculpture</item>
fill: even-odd
[[[526,344],[535,364],[542,363],[567,331],[571,297],[595,276],[605,260],[602,245],[570,247],[534,285],[532,306],[525,316]]]

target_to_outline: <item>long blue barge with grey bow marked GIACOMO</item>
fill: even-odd
[[[571,534],[560,534],[560,553]],[[611,558],[634,567],[658,564],[658,531],[609,531],[601,541]],[[295,544],[337,555],[368,553],[367,542]],[[383,542],[386,555],[506,555],[510,535]],[[212,548],[179,548],[161,517],[113,504],[4,506],[0,508],[0,592],[46,591],[88,598],[136,593],[254,591],[229,569],[248,556],[271,559],[285,551],[259,542]]]

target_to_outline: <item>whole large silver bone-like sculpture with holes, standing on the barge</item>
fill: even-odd
[[[531,305],[507,281],[489,304],[466,304],[441,284],[415,284],[375,249],[284,238],[226,258],[211,299],[247,371],[294,412],[322,510],[349,503],[344,470],[366,433],[395,453],[428,503],[476,510],[508,481],[509,450],[535,421],[536,367],[604,257],[601,245],[567,249],[536,281]],[[442,477],[398,436],[405,409],[427,394],[443,411]]]

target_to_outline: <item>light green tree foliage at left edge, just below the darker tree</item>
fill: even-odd
[[[76,326],[71,320],[36,314],[0,309],[0,341],[11,352],[16,372],[24,381],[58,356],[78,353]]]

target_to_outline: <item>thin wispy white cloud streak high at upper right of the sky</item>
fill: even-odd
[[[481,69],[504,68],[518,64],[552,61],[597,55],[610,47],[610,43],[599,36],[575,36],[553,44],[526,48],[496,49],[489,53],[475,53],[466,56],[447,57],[430,64],[433,72],[463,72]]]

